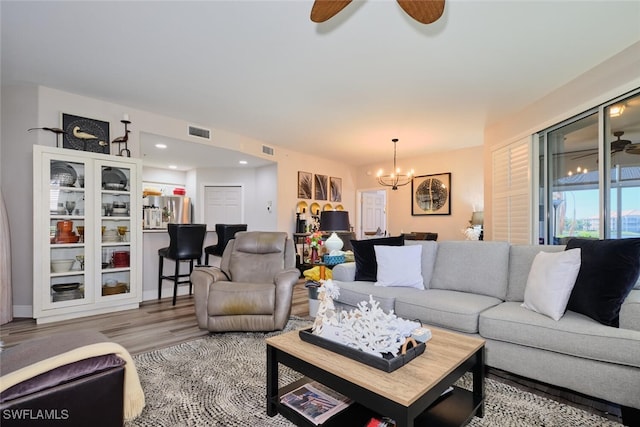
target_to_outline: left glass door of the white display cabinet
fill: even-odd
[[[42,197],[47,199],[48,210],[40,214],[48,230],[43,233],[48,250],[43,253],[42,273],[48,277],[49,289],[43,295],[43,306],[84,304],[91,296],[85,290],[86,162],[49,157],[45,165],[50,178]]]

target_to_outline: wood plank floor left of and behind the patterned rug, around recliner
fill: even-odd
[[[309,316],[307,289],[302,280],[294,287],[291,314]],[[145,301],[136,310],[43,325],[37,325],[33,319],[15,319],[0,326],[0,340],[8,347],[31,338],[81,329],[100,331],[131,354],[169,347],[208,334],[198,328],[193,296],[185,295],[178,297],[175,306],[171,305],[171,298],[164,298]]]

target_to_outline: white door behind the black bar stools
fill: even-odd
[[[213,230],[216,224],[242,224],[242,187],[214,186],[204,187],[204,221],[207,229]]]

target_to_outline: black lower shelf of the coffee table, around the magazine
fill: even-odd
[[[365,426],[371,417],[382,417],[384,414],[378,414],[370,409],[360,405],[357,402],[351,404],[348,408],[334,415],[323,424],[314,424],[292,409],[282,403],[280,398],[286,393],[294,390],[306,383],[311,382],[310,378],[302,378],[294,381],[278,390],[278,398],[274,399],[274,404],[279,414],[301,427],[344,427],[349,426]],[[426,411],[414,420],[416,427],[460,427],[469,423],[474,417],[481,401],[474,402],[473,393],[469,390],[453,387],[453,392],[434,402]]]

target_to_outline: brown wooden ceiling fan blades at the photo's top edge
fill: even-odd
[[[400,7],[422,24],[436,22],[444,12],[445,0],[397,0]],[[325,22],[347,7],[351,0],[315,0],[311,8],[313,22]]]

